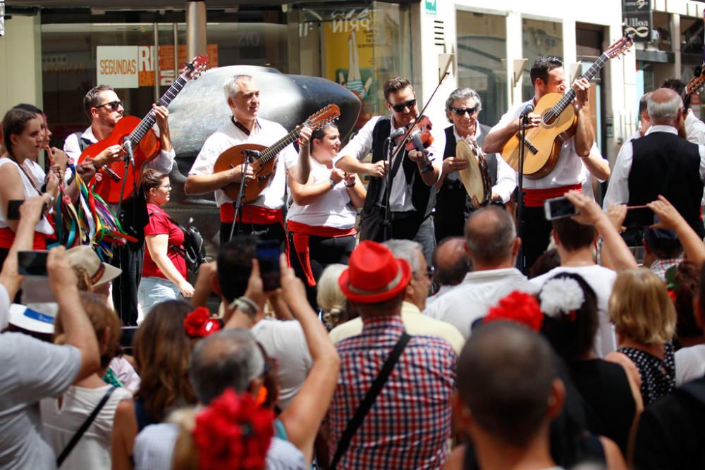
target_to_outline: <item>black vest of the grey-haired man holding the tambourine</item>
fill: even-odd
[[[484,124],[477,123],[482,132],[477,144],[482,147],[485,136],[490,128]],[[455,156],[455,134],[453,126],[446,128],[446,149],[443,150],[443,159]],[[492,185],[497,184],[497,154],[487,154],[485,156],[487,168],[489,168]],[[470,204],[470,197],[465,191],[465,187],[460,180],[460,173],[454,171],[446,175],[443,185],[436,194],[436,212],[434,214],[434,224],[436,225],[436,237],[442,240],[445,237],[462,237],[465,219],[474,211]],[[461,215],[462,214],[462,215]]]

